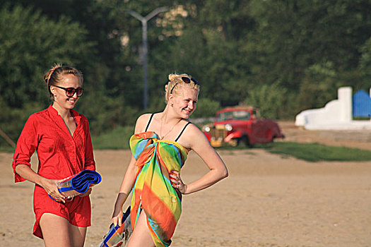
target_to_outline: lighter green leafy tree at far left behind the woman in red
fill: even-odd
[[[32,8],[0,9],[0,128],[13,140],[25,119],[49,103],[45,71],[56,62],[78,66],[93,57],[85,36],[64,16],[53,21]]]

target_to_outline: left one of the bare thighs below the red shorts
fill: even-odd
[[[69,221],[58,215],[45,213],[41,216],[40,227],[46,247],[71,247]]]

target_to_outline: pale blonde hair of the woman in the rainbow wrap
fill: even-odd
[[[169,82],[165,85],[165,103],[167,104],[167,101],[169,99],[170,93],[172,95],[179,95],[182,92],[182,87],[179,87],[179,85],[186,85],[188,88],[193,88],[199,92],[200,86],[194,83],[193,80],[190,80],[190,83],[184,83],[182,80],[182,77],[187,77],[189,80],[192,78],[192,76],[189,76],[187,74],[170,74],[168,76]]]

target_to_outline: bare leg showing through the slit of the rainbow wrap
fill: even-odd
[[[151,236],[151,232],[147,226],[147,215],[142,210],[141,215],[139,215],[139,219],[136,222],[135,229],[130,236],[128,247],[153,247],[155,243],[153,243],[153,239]]]

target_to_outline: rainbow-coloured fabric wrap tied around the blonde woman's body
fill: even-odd
[[[144,210],[155,246],[170,246],[182,213],[182,194],[172,187],[169,174],[180,171],[188,151],[175,141],[159,140],[151,131],[132,135],[130,147],[138,167],[131,196],[133,230]]]

